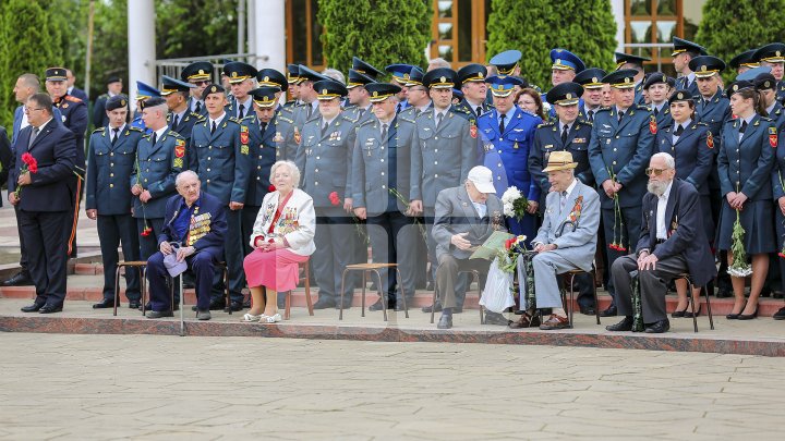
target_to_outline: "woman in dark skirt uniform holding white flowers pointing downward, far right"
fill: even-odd
[[[728,266],[733,265],[733,231],[736,216],[745,230],[745,252],[752,256],[752,284],[745,304],[745,277],[732,277],[733,310],[728,319],[749,320],[758,316],[758,297],[769,271],[769,253],[776,249],[772,212],[771,171],[777,145],[776,127],[765,114],[754,84],[734,83],[727,91],[730,110],[737,118],[723,126],[717,158],[720,186],[723,195],[717,247],[727,250]]]

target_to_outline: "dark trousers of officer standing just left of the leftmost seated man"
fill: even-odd
[[[122,244],[123,259],[138,260],[140,245],[136,234],[136,221],[131,215],[98,215],[98,240],[104,261],[104,298],[114,298],[114,272],[120,258],[118,246]],[[125,297],[138,301],[140,273],[135,268],[125,269]]]

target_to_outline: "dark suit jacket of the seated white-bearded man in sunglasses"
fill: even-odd
[[[656,243],[657,197],[652,193],[643,196],[643,222],[636,254],[649,249],[659,260],[684,256],[692,283],[703,285],[714,278],[716,267],[709,249],[709,240],[703,228],[700,194],[681,180],[674,180],[665,207],[667,240]]]

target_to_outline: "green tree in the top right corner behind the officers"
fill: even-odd
[[[785,40],[785,28],[780,25],[784,21],[781,0],[708,0],[696,40],[727,62],[745,50]],[[728,81],[736,73],[728,70],[723,76]]]

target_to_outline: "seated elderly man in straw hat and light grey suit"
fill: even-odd
[[[600,226],[600,196],[575,177],[577,166],[569,151],[554,151],[543,169],[551,191],[545,198],[543,224],[532,240],[536,252],[532,259],[536,305],[526,305],[527,311],[510,328],[529,327],[535,307],[552,308],[540,329],[569,327],[557,278],[575,269],[591,270]]]

